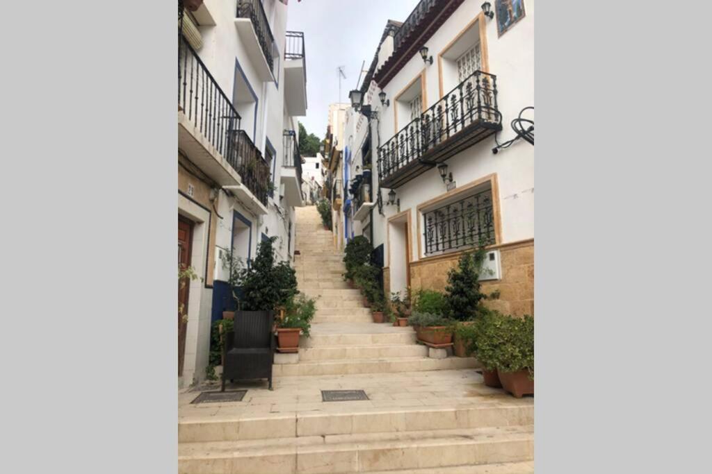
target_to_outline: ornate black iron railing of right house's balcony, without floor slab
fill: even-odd
[[[431,150],[465,129],[499,122],[497,78],[475,71],[378,149],[379,179],[415,161],[427,161]]]

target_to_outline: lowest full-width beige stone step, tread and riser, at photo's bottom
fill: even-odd
[[[179,445],[179,473],[365,473],[523,462],[533,458],[533,426],[288,438]]]

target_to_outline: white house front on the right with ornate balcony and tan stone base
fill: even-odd
[[[389,21],[344,159],[347,214],[382,246],[387,292],[444,289],[483,242],[496,269],[484,284],[501,293],[488,304],[533,315],[534,3],[493,1],[490,15],[477,0],[422,0]]]

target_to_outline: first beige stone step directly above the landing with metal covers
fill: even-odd
[[[326,360],[275,365],[273,367],[273,375],[276,377],[290,377],[296,375],[378,374],[422,370],[454,370],[477,366],[478,362],[472,357],[447,357],[446,359],[383,357],[371,360]]]

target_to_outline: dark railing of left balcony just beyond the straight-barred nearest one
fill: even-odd
[[[233,130],[229,133],[228,156],[234,158],[233,166],[240,173],[242,183],[263,205],[267,205],[269,164],[246,131]]]

